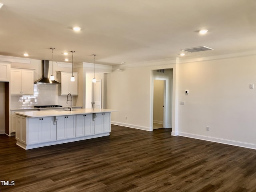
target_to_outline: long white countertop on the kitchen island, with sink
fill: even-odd
[[[112,109],[73,109],[70,110],[42,110],[42,111],[23,111],[15,112],[18,115],[26,117],[50,117],[50,116],[63,116],[63,115],[77,115],[77,114],[89,114],[89,113],[106,113],[106,112],[116,112],[117,110]]]

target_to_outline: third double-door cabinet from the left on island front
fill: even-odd
[[[76,137],[89,136],[94,134],[92,126],[92,114],[76,115]]]

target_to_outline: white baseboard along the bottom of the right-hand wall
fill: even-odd
[[[204,135],[198,135],[198,134],[191,134],[191,133],[185,133],[185,132],[178,132],[178,134],[172,132],[172,135],[173,136],[179,135],[179,136],[184,136],[184,137],[189,137],[189,138],[194,138],[194,139],[206,140],[206,141],[228,144],[228,145],[250,148],[250,149],[256,149],[256,144],[234,141],[234,140],[228,140],[228,139],[223,139],[223,138],[216,138],[216,137],[210,137],[210,136],[204,136]]]

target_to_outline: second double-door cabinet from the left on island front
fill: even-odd
[[[56,127],[56,140],[76,137],[76,116],[58,116]]]

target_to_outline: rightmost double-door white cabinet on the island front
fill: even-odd
[[[95,118],[95,134],[110,132],[110,112],[97,113]]]

